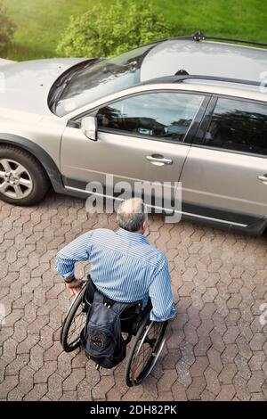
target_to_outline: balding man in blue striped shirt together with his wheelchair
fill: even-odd
[[[132,335],[135,336],[134,350],[138,349],[137,355],[140,355],[145,343],[149,344],[152,355],[150,354],[148,366],[153,367],[164,343],[167,321],[176,315],[166,256],[151,246],[144,237],[148,226],[148,211],[141,199],[123,201],[117,209],[117,223],[117,232],[99,228],[69,243],[57,255],[56,270],[64,279],[70,293],[78,294],[77,301],[69,309],[70,312],[72,310],[71,316],[77,316],[77,308],[81,302],[84,304],[84,312],[87,313],[95,300],[95,293],[99,300],[102,299],[105,307],[118,305],[121,310],[121,331],[128,333],[126,343],[131,340]],[[91,262],[86,285],[74,276],[75,263],[85,260]],[[78,346],[77,341],[68,343],[72,317],[71,321],[65,321],[61,334],[65,341],[63,348],[67,351]],[[100,345],[99,342],[94,343]],[[157,351],[155,345],[158,345]],[[130,357],[126,376],[128,385],[136,385],[150,374],[151,369],[148,367],[145,368],[145,374],[133,373],[132,366],[137,362],[137,355],[134,352],[132,358]]]

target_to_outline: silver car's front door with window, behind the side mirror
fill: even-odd
[[[124,190],[134,183],[178,182],[190,150],[190,135],[209,97],[179,91],[148,91],[103,104],[96,111],[97,141],[70,121],[61,142],[61,172],[67,188],[85,190],[92,181],[106,185],[107,174]],[[194,123],[195,122],[195,123]],[[120,184],[122,185],[122,184]],[[174,197],[176,185],[167,185]],[[157,197],[159,189],[153,189]],[[162,193],[162,191],[161,191]]]

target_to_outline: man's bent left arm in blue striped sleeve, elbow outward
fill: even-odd
[[[93,231],[80,235],[57,254],[55,270],[63,279],[74,278],[75,263],[89,259],[92,234]]]

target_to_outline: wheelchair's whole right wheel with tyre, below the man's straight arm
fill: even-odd
[[[141,384],[156,365],[165,344],[167,324],[167,321],[150,321],[150,313],[145,316],[134,338],[126,365],[125,382],[128,387]]]

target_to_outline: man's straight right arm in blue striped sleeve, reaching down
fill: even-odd
[[[176,316],[174,297],[171,288],[171,277],[166,258],[163,266],[152,279],[149,294],[152,303],[150,320],[163,322]]]

